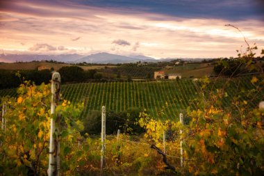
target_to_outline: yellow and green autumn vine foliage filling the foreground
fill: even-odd
[[[129,135],[133,131],[130,127],[119,127],[122,128],[119,141],[115,135],[108,135],[105,175],[261,175],[264,170],[264,111],[254,104],[258,101],[256,94],[263,93],[263,78],[249,79],[251,88],[241,87],[244,91],[233,94],[230,99],[232,106],[222,106],[228,101],[219,99],[226,94],[229,96],[223,88],[235,88],[232,81],[225,80],[220,84],[222,89],[210,91],[209,97],[197,95],[193,106],[187,109],[185,118],[189,120],[185,120],[184,125],[178,122],[178,118],[165,120],[161,113],[153,118],[142,112],[138,120],[129,121],[142,129],[141,135]],[[231,87],[227,87],[229,83]],[[215,81],[205,79],[201,82],[201,91],[215,84]],[[242,84],[237,84],[230,92],[235,93],[240,86]],[[8,107],[3,116],[8,121],[0,134],[0,170],[4,175],[46,174],[51,118],[49,90],[50,86],[44,84],[24,83],[17,90],[17,97],[3,99]],[[57,113],[63,117],[60,121],[61,172],[64,175],[99,175],[100,138],[81,135],[84,129],[79,119],[81,109],[82,105],[73,106],[67,100],[57,107]],[[181,139],[184,139],[183,167],[180,165]],[[160,153],[163,154],[164,150],[162,157]]]

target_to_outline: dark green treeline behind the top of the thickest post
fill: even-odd
[[[36,85],[49,83],[52,72],[53,70],[0,70],[0,89],[17,88],[27,80],[33,81]],[[102,78],[97,70],[84,71],[78,66],[61,67],[58,72],[63,83],[78,83]]]

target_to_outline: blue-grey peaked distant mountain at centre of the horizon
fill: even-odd
[[[80,58],[74,63],[136,63],[138,61],[156,61],[154,58],[149,58],[147,56],[121,56],[117,54],[109,53],[97,53],[91,54],[90,56],[85,56]]]

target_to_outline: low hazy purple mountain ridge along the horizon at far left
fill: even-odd
[[[30,62],[53,60],[58,62],[70,62],[76,59],[83,58],[79,54],[60,54],[60,55],[34,55],[34,54],[0,54],[0,62],[15,63],[15,62]]]

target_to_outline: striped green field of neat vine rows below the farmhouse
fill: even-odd
[[[204,98],[210,99],[210,92],[222,88],[228,79],[217,79],[204,90]],[[232,97],[239,90],[251,90],[254,88],[249,77],[228,80],[226,96],[222,98],[222,106],[231,106]],[[106,110],[115,112],[126,109],[147,109],[154,118],[174,119],[179,113],[185,113],[188,106],[195,108],[192,102],[195,98],[201,98],[201,81],[181,79],[179,81],[132,81],[132,82],[104,82],[104,83],[75,83],[63,85],[61,93],[64,99],[76,104],[84,102],[82,115],[92,110],[100,110],[106,106]],[[0,90],[0,96],[15,96],[15,89]],[[264,93],[260,93],[256,99]],[[249,106],[254,107],[258,101],[250,101]]]

